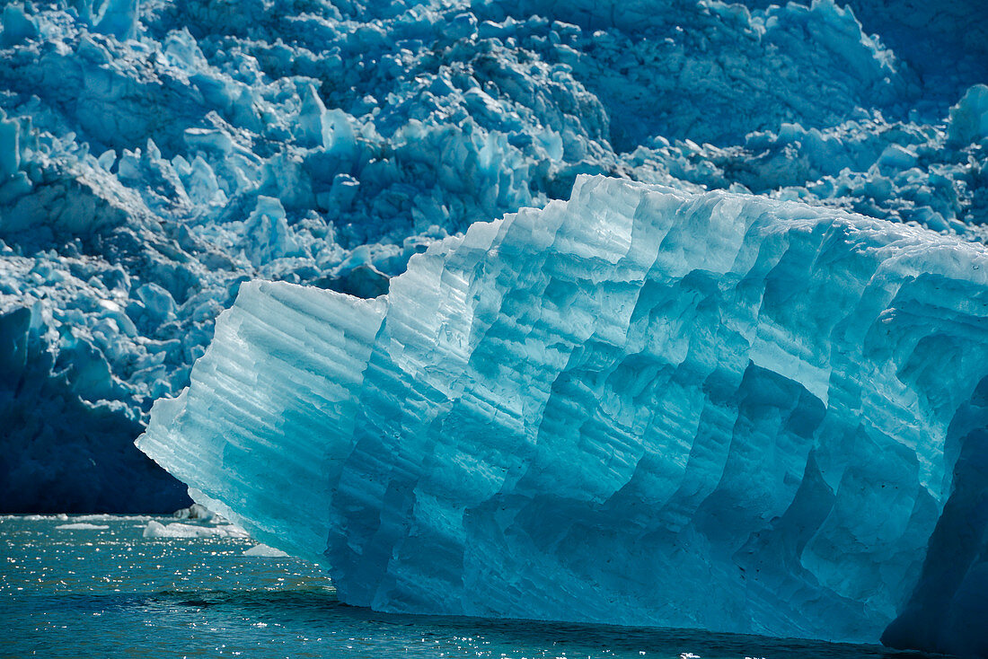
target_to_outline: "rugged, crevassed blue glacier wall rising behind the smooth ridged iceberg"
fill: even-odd
[[[988,9],[852,6],[6,3],[0,507],[186,505],[130,443],[241,282],[372,297],[579,173],[982,240]]]

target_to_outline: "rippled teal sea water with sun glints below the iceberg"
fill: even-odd
[[[379,614],[341,604],[310,563],[251,555],[247,537],[145,537],[152,521],[178,522],[0,518],[0,657],[923,656],[692,630]]]

